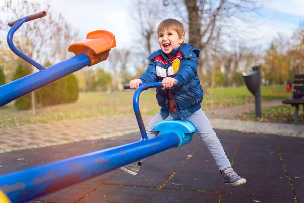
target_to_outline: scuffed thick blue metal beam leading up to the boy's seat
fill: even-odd
[[[26,202],[75,183],[104,174],[179,144],[177,134],[84,154],[0,176],[0,190],[12,203]]]

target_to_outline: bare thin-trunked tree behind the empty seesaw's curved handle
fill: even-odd
[[[39,63],[45,62],[46,58],[58,56],[59,50],[54,50],[54,44],[62,40],[72,40],[75,36],[71,35],[71,29],[61,14],[54,13],[48,2],[29,2],[26,0],[12,1],[6,0],[0,13],[3,17],[0,21],[0,31],[8,31],[8,22],[16,20],[30,14],[47,11],[47,16],[24,23],[16,32],[14,43],[23,53],[33,58]],[[6,17],[6,18],[5,18]],[[62,47],[57,48],[61,49]],[[52,50],[52,51],[50,51]],[[66,48],[67,50],[67,48]],[[53,54],[50,54],[53,53]],[[56,52],[56,53],[55,53]],[[67,51],[66,51],[67,52]],[[54,54],[55,53],[55,54]],[[62,54],[61,52],[60,54]],[[32,72],[34,71],[31,68]],[[32,94],[32,110],[35,114],[34,92]]]

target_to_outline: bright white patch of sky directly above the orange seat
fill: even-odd
[[[52,0],[70,25],[80,31],[81,39],[94,30],[107,30],[115,35],[117,48],[130,44],[129,6],[132,0]]]

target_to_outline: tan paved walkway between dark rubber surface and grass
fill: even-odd
[[[262,107],[269,108],[280,104],[282,104],[281,101],[272,101],[263,103]],[[304,137],[304,125],[234,120],[235,116],[254,108],[254,104],[246,104],[205,113],[214,129]],[[152,117],[144,115],[144,123],[147,125]],[[105,139],[138,131],[136,118],[132,114],[0,128],[0,153],[83,140]]]

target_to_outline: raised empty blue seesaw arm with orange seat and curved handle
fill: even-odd
[[[43,65],[37,63],[15,47],[13,43],[13,35],[23,23],[46,15],[47,13],[43,11],[9,23],[9,26],[12,27],[7,36],[7,42],[10,49],[17,56],[39,69],[39,72],[32,73],[1,86],[0,107],[29,92],[78,71],[83,67],[92,66],[106,60],[111,48],[116,47],[115,37],[111,32],[105,30],[93,31],[88,33],[86,40],[73,43],[69,46],[68,51],[74,52],[74,57],[45,68]]]

